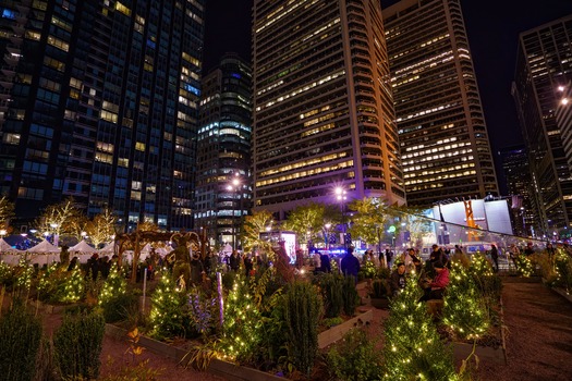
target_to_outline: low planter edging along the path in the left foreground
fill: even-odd
[[[106,324],[106,334],[113,336],[113,337],[126,337],[127,331],[112,325],[112,324]],[[157,340],[146,337],[146,336],[139,336],[138,344],[141,346],[146,347],[153,353],[156,353],[158,355],[171,358],[175,361],[181,361],[181,359],[186,355],[186,351],[171,346],[169,344],[166,344],[163,342],[159,342]],[[253,368],[247,367],[241,367],[235,364],[222,361],[219,359],[212,359],[210,361],[210,365],[207,368],[207,372],[216,376],[220,376],[224,378],[226,380],[231,381],[272,381],[272,380],[282,380],[288,381],[288,379],[283,377],[277,377],[270,373],[266,373]]]

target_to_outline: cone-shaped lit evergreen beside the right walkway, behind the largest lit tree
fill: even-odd
[[[487,331],[489,320],[475,280],[459,262],[452,263],[449,279],[443,297],[443,323],[461,339],[477,339]]]

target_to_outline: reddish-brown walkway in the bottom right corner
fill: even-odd
[[[519,279],[515,279],[515,281]],[[478,378],[572,380],[572,303],[541,283],[503,281],[508,365],[480,362]]]

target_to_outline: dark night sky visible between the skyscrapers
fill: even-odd
[[[382,7],[395,2],[381,0]],[[252,4],[248,0],[207,0],[204,52],[207,71],[227,51],[250,60]],[[519,33],[572,14],[572,0],[462,0],[461,5],[496,153],[500,148],[522,143],[510,94]]]

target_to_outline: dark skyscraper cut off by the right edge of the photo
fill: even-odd
[[[512,86],[547,237],[572,221],[572,176],[556,112],[561,87],[572,81],[571,41],[572,15],[521,33]]]

